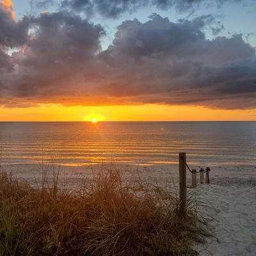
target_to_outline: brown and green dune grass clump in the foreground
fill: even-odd
[[[156,184],[124,186],[102,170],[68,189],[47,173],[40,188],[0,173],[0,255],[192,256],[210,235],[193,200],[180,216],[177,196]]]

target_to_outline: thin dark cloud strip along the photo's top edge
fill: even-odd
[[[133,12],[143,6],[156,6],[159,9],[176,8],[184,11],[194,8],[198,4],[223,4],[225,2],[239,2],[242,0],[63,0],[61,6],[72,8],[76,12],[92,15],[99,12],[105,17],[116,18],[121,13]]]

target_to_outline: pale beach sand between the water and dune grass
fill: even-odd
[[[93,172],[104,168],[114,168],[122,172],[125,182],[140,179],[145,182],[154,180],[164,188],[179,192],[178,164],[156,164],[138,166],[133,164],[96,164],[86,166],[60,166],[60,182],[68,180],[70,186],[79,185],[83,177],[92,177]],[[58,166],[54,166],[55,171]],[[197,168],[198,166],[191,166]],[[210,184],[200,184],[188,189],[196,193],[200,212],[211,221],[214,237],[203,245],[195,245],[200,255],[239,256],[256,255],[256,166],[210,166]],[[42,165],[10,164],[4,170],[12,172],[21,180],[28,180],[40,186]],[[51,177],[51,175],[50,175]],[[187,172],[187,182],[191,174]]]

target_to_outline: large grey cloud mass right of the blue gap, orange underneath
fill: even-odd
[[[100,54],[121,87],[113,83],[106,90],[134,102],[255,108],[255,50],[241,35],[207,40],[205,19],[173,23],[155,14],[144,24],[123,22]],[[245,97],[252,100],[244,104]]]

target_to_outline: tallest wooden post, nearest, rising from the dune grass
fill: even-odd
[[[186,200],[187,200],[187,188],[186,188],[186,153],[179,153],[179,174],[180,174],[180,202],[179,211],[180,214],[186,214]]]

